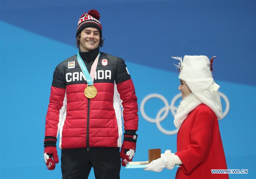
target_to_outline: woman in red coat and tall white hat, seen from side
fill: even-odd
[[[170,150],[152,161],[145,170],[162,171],[180,165],[176,178],[228,178],[228,174],[212,174],[211,169],[227,169],[218,119],[222,106],[218,88],[212,78],[212,62],[206,56],[185,55],[178,59],[179,90],[182,101],[174,116],[177,152]]]

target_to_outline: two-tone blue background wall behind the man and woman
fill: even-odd
[[[219,121],[228,169],[248,169],[230,178],[255,178],[255,1],[0,1],[1,10],[1,174],[0,178],[61,178],[60,163],[49,171],[43,159],[45,116],[53,71],[77,53],[80,15],[100,12],[104,47],[122,57],[139,105],[139,138],[133,161],[147,149],[176,151],[177,135],[163,134],[141,115],[144,97],[158,93],[172,101],[179,80],[171,56],[213,55],[214,77],[230,109]],[[159,80],[161,88],[156,88]],[[179,99],[180,100],[180,99]],[[178,106],[179,100],[175,105]],[[225,109],[226,103],[222,99]],[[151,118],[164,107],[149,99]],[[160,122],[174,130],[169,111]],[[61,151],[58,150],[59,159]],[[121,168],[121,178],[174,178]],[[90,178],[94,178],[91,172]]]

